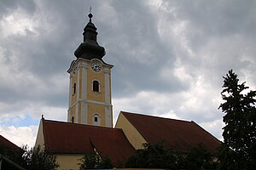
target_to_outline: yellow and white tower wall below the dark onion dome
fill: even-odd
[[[97,60],[102,64],[102,70],[91,70],[91,62]],[[74,122],[113,127],[113,108],[111,102],[111,73],[112,65],[106,65],[99,59],[78,59],[73,61],[68,70],[70,74],[70,96],[68,122],[74,116]],[[93,91],[93,81],[98,81],[99,92]],[[73,83],[77,83],[77,92],[73,94]],[[100,116],[101,124],[93,122],[93,115]]]

